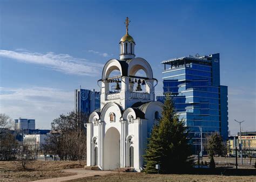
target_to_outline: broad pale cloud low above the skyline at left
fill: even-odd
[[[50,129],[53,119],[75,108],[74,92],[47,87],[0,87],[0,110],[16,119],[34,118],[36,128]]]

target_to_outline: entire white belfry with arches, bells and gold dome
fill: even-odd
[[[163,109],[163,103],[154,101],[157,80],[151,66],[145,59],[135,58],[129,23],[127,17],[126,34],[119,43],[120,60],[111,59],[103,68],[100,109],[86,124],[87,166],[101,170],[133,167],[141,171],[147,138]],[[138,76],[138,71],[145,76]]]

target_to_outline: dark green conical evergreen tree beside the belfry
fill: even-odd
[[[144,156],[147,162],[146,172],[157,173],[156,164],[160,164],[160,173],[184,171],[191,166],[191,148],[187,134],[184,121],[179,121],[173,101],[167,94],[161,120],[152,129]]]

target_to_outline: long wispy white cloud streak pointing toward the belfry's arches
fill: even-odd
[[[0,50],[0,57],[14,59],[28,64],[38,64],[65,74],[95,76],[101,73],[104,65],[83,58],[74,58],[69,54],[46,54],[28,52],[22,49],[16,51]]]

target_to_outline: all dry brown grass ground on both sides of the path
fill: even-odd
[[[22,170],[15,162],[0,162],[0,181],[31,181],[50,179],[77,174],[73,169],[83,167],[79,162],[69,161],[36,161],[28,166],[29,170]],[[80,170],[81,171],[81,170]],[[86,174],[86,171],[82,170]],[[97,172],[97,171],[94,171]],[[110,174],[96,173],[92,177],[83,177],[71,181],[256,181],[256,176],[221,176],[221,175],[198,175],[198,174],[146,174],[146,173],[123,173]],[[78,177],[79,178],[79,177]]]

